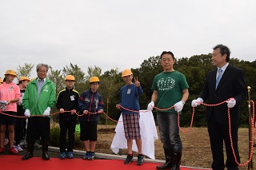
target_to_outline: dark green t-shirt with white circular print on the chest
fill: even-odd
[[[186,77],[174,70],[173,72],[158,73],[154,77],[152,89],[158,91],[157,107],[159,109],[168,109],[182,100],[182,90],[188,89]],[[177,113],[174,108],[166,111],[166,113]]]

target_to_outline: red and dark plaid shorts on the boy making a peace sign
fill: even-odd
[[[141,129],[139,127],[139,113],[122,114],[122,121],[126,140],[140,140]]]

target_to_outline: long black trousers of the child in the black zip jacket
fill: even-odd
[[[72,121],[59,120],[60,152],[73,152],[75,126],[76,126],[76,120],[72,120]],[[66,133],[68,134],[68,144],[66,144]]]

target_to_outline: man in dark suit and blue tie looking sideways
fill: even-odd
[[[206,121],[210,136],[210,147],[213,155],[213,170],[225,168],[223,140],[226,146],[226,168],[238,170],[230,143],[228,108],[230,108],[231,136],[235,157],[240,163],[238,153],[239,111],[242,101],[246,99],[246,81],[244,71],[229,64],[230,49],[226,45],[216,45],[211,60],[216,69],[206,75],[202,94],[192,101],[192,107],[207,101],[207,104],[218,104],[226,101],[227,105],[207,106]]]

